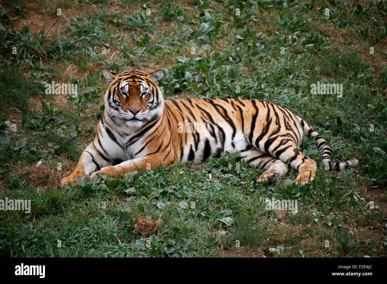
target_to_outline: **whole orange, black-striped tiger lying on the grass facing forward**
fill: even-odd
[[[202,163],[226,152],[265,171],[258,182],[273,184],[289,166],[294,182],[315,179],[317,163],[299,147],[315,137],[326,169],[356,167],[357,159],[331,162],[332,148],[315,129],[288,109],[271,102],[218,99],[166,99],[158,83],[163,71],[130,70],[115,74],[103,69],[109,83],[96,136],[80,156],[74,171],[60,185],[91,175],[120,178],[134,170],[168,168],[183,162]],[[202,127],[205,126],[205,127]]]

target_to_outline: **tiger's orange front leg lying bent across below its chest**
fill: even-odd
[[[96,175],[97,173],[99,173],[100,175],[110,175],[110,177],[116,179],[119,178],[121,175],[124,175],[125,173],[133,172],[134,170],[139,170],[139,168],[141,168],[140,172],[144,172],[145,170],[157,169],[159,168],[160,164],[163,164],[164,168],[168,168],[177,162],[178,160],[176,159],[172,151],[168,153],[153,153],[145,156],[144,158],[136,158],[133,160],[122,162],[115,166],[101,168],[101,170],[94,172],[91,175],[91,179],[93,179],[94,175]]]

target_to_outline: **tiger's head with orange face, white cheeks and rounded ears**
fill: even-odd
[[[164,99],[158,82],[163,78],[162,70],[150,74],[143,71],[115,74],[104,68],[103,75],[109,83],[105,107],[111,118],[124,121],[127,126],[140,128],[161,116]]]

